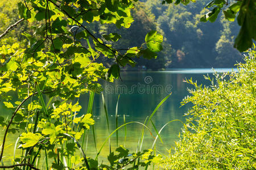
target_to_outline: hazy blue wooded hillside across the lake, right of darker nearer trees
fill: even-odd
[[[214,23],[200,22],[201,16],[209,12],[204,8],[207,1],[199,0],[187,6],[159,5],[152,0],[145,3],[155,14],[159,32],[166,37],[164,44],[171,46],[165,53],[167,68],[232,67],[241,61],[241,53],[233,48],[239,32],[236,21],[230,22],[221,14]]]

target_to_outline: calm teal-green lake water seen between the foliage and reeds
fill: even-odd
[[[216,69],[218,73],[232,71],[232,69]],[[187,112],[191,104],[187,104],[180,107],[180,102],[188,94],[187,88],[192,88],[191,85],[183,82],[185,78],[197,80],[197,84],[209,85],[203,75],[212,75],[212,69],[175,69],[168,71],[133,71],[122,72],[121,79],[115,80],[113,83],[101,82],[104,87],[104,97],[106,107],[108,109],[110,132],[115,129],[115,109],[117,105],[118,95],[118,126],[123,125],[123,115],[125,115],[126,122],[137,121],[144,122],[147,116],[154,111],[156,106],[166,97],[168,94],[172,95],[162,104],[155,115],[152,117],[152,121],[155,124],[156,129],[160,130],[167,122],[171,120],[181,120],[185,122],[184,113]],[[82,105],[80,114],[84,114],[87,111],[89,95],[81,95],[79,101]],[[1,109],[1,106],[0,106]],[[3,110],[1,109],[3,114]],[[102,104],[102,97],[100,94],[94,96],[93,103],[93,115],[96,131],[97,150],[101,147],[102,143],[108,137],[108,128],[106,124],[106,117],[104,111],[104,105]],[[152,131],[154,137],[156,133],[150,124],[148,126]],[[182,128],[182,124],[179,121],[171,122],[168,124],[160,134],[163,143],[159,140],[156,143],[156,151],[163,155],[168,155],[168,150],[174,146],[174,141],[178,140]],[[136,151],[138,146],[138,140],[141,137],[142,125],[129,124],[127,125],[127,138],[125,140],[125,130],[121,128],[118,131],[118,145],[124,145],[130,151]],[[3,132],[1,133],[2,140]],[[151,148],[154,142],[154,137],[146,131],[143,143],[143,149]],[[10,135],[7,137],[7,144],[10,145],[5,150],[6,156],[13,155],[14,141],[16,137]],[[112,143],[112,151],[116,147],[115,134],[110,138]],[[13,145],[11,145],[13,144]],[[7,146],[7,145],[6,145]],[[101,152],[100,159],[104,159],[102,155],[108,155],[109,146],[106,143],[104,149]],[[89,157],[96,156],[96,149],[93,143],[92,130],[88,135],[88,146],[86,154]]]

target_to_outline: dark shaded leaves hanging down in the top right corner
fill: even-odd
[[[194,0],[191,0],[195,2]],[[172,3],[172,0],[163,0],[163,3]],[[177,0],[175,5],[183,3],[188,5],[190,1]],[[213,0],[209,2],[205,8],[209,8],[200,20],[201,22],[215,22],[220,11],[223,12],[225,18],[234,21],[237,17],[237,22],[241,26],[240,32],[234,42],[234,47],[244,52],[253,46],[253,40],[256,40],[256,4],[255,0],[228,1],[228,0]],[[238,15],[237,15],[238,14]]]

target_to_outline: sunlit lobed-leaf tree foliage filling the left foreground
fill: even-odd
[[[79,114],[80,95],[101,92],[98,80],[118,78],[121,66],[134,66],[134,57],[156,57],[156,52],[162,50],[163,37],[151,31],[146,35],[146,42],[122,49],[121,53],[102,40],[115,42],[120,35],[112,32],[96,37],[86,25],[100,22],[129,28],[133,22],[132,8],[134,1],[28,0],[18,3],[19,15],[29,22],[32,33],[23,33],[28,45],[10,42],[11,45],[7,43],[0,48],[1,100],[13,112],[11,118],[1,116],[5,134],[0,161],[7,134],[24,130],[18,138],[22,155],[13,160],[13,167],[23,164],[35,168],[36,159],[43,151],[46,169],[95,167],[97,158],[86,158],[78,142],[94,124],[91,109],[85,115]],[[99,57],[114,58],[115,64],[106,69],[103,63],[96,62]],[[81,158],[77,158],[77,150]],[[114,158],[126,159],[128,155],[119,152],[121,155],[113,155]],[[49,159],[53,159],[52,164],[48,164]],[[111,160],[115,162],[115,159]],[[128,162],[122,165],[125,163]]]

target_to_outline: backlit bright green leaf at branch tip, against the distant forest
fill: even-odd
[[[148,49],[150,49],[152,52],[160,52],[160,50],[163,49],[163,36],[157,33],[157,31],[148,32],[145,37],[145,41]]]

